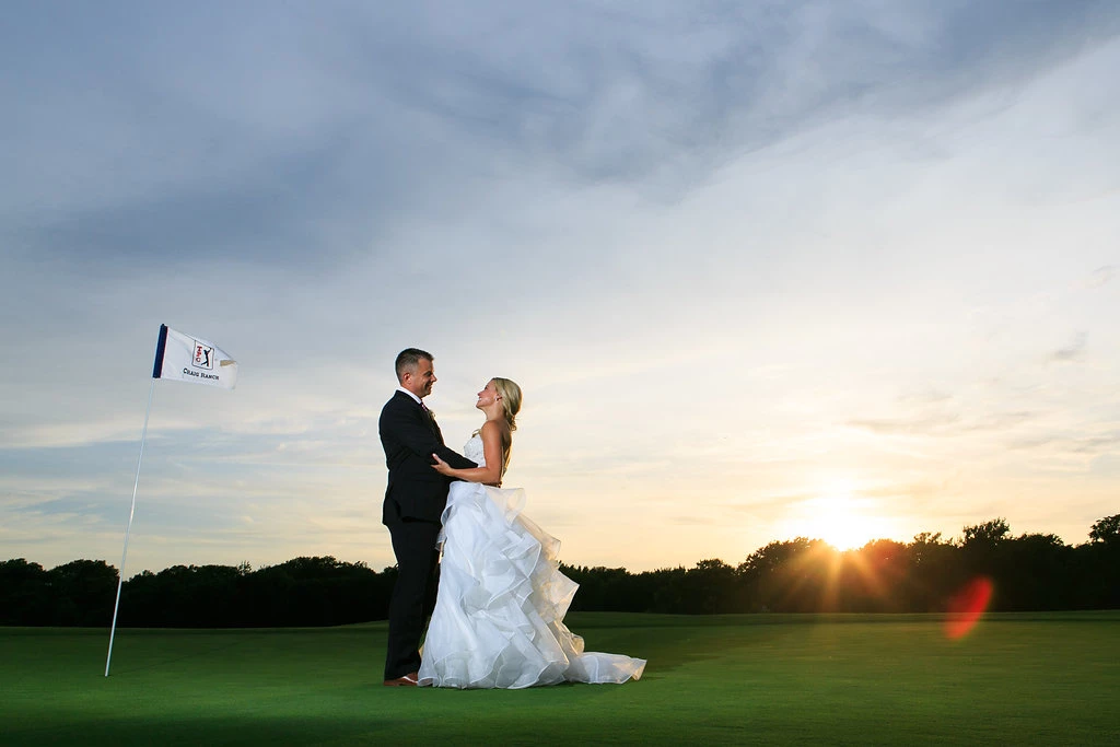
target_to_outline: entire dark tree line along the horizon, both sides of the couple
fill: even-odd
[[[1012,536],[1006,520],[965,526],[943,540],[876,540],[837,551],[822,540],[771,542],[738,566],[631,573],[561,566],[580,585],[573,610],[669,614],[926,613],[951,608],[977,578],[993,588],[990,609],[1120,608],[1120,514],[1095,522],[1089,542],[1054,534]],[[0,562],[0,625],[108,626],[116,569],[75,560],[50,570],[25,559]],[[253,570],[175,566],[124,582],[121,627],[283,627],[385,619],[395,568],[381,572],[334,558],[296,558]]]

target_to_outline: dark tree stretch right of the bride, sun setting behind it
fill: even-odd
[[[1070,547],[1054,534],[1012,536],[1007,521],[965,526],[959,540],[922,533],[839,552],[822,540],[771,542],[738,566],[629,573],[564,568],[580,585],[572,609],[676,614],[928,613],[952,609],[987,579],[993,611],[1120,608],[1120,514]]]

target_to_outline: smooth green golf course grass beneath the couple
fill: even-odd
[[[1120,743],[1120,613],[572,614],[640,682],[383,688],[385,625],[0,628],[4,745]]]

